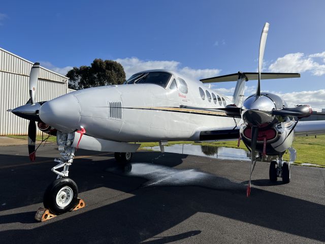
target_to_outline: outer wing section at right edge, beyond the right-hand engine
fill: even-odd
[[[299,121],[295,127],[295,135],[325,135],[325,120]]]

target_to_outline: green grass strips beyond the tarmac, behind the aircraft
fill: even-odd
[[[11,138],[17,139],[25,139],[27,140],[27,136],[12,136],[8,135]],[[44,138],[46,138],[44,136]],[[36,140],[42,140],[42,136],[37,136]],[[55,136],[50,136],[48,142],[56,142]],[[224,147],[237,147],[237,140],[236,141],[213,141],[213,142],[193,142],[193,141],[170,141],[168,142],[167,146],[171,146],[174,144],[193,144],[193,145],[203,145],[203,146],[224,146]],[[141,148],[143,147],[151,147],[151,146],[158,146],[158,142],[143,142],[141,143]],[[297,159],[295,161],[296,164],[302,163],[310,163],[316,164],[320,167],[325,167],[325,135],[317,136],[300,136],[296,137],[293,143],[293,147],[297,150]],[[246,149],[246,146],[241,141],[240,147],[242,149]],[[289,154],[284,155],[284,160],[289,160]]]

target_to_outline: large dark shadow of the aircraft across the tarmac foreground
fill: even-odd
[[[8,155],[6,157],[10,158]],[[112,242],[136,243],[177,226],[197,212],[207,212],[325,241],[323,225],[315,224],[323,223],[323,205],[261,189],[254,189],[251,197],[246,198],[243,192],[245,182],[234,182],[199,170],[173,168],[181,164],[184,157],[186,156],[142,152],[135,154],[132,168],[126,171],[116,167],[113,159],[78,159],[71,168],[70,177],[77,182],[79,192],[106,187],[128,192],[133,196],[94,209],[86,207],[69,218],[58,217],[56,221],[40,223],[35,229],[0,231],[0,235],[2,238],[12,238],[28,233],[30,240],[41,238],[45,242],[53,241],[53,236],[44,234],[40,237],[40,233],[57,233],[58,230],[66,229],[69,230],[69,235],[56,235],[56,241],[73,240],[84,243],[87,238],[98,243],[107,243],[108,239]],[[22,158],[25,160],[25,157]],[[42,202],[44,189],[50,179],[54,178],[49,170],[52,166],[53,162],[45,162],[20,166],[13,170],[0,170],[1,201],[7,202],[0,209]],[[258,185],[258,181],[256,182]],[[259,184],[263,185],[265,181],[262,180]],[[35,212],[23,212],[0,216],[0,224],[30,223],[34,214]],[[80,235],[80,230],[85,230],[85,225],[86,237]],[[201,231],[203,230],[154,237],[154,240],[143,243],[167,243],[198,235]]]

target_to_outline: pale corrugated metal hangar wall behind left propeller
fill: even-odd
[[[28,121],[7,112],[7,109],[24,105],[28,101],[28,79],[32,64],[0,48],[0,136],[27,135]],[[67,93],[68,78],[41,67],[36,101],[48,101]],[[38,134],[41,135],[41,131],[38,130]]]

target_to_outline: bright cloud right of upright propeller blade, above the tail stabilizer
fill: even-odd
[[[325,74],[325,64],[316,62],[315,57],[322,57],[322,63],[325,63],[325,52],[314,53],[305,56],[304,53],[289,53],[283,57],[279,57],[273,64],[269,66],[271,72],[289,72],[302,73],[309,71],[312,75],[320,76]]]

